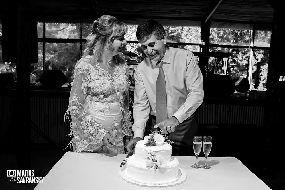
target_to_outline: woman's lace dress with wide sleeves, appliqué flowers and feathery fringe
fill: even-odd
[[[115,58],[113,75],[100,68],[93,56],[82,58],[75,66],[65,114],[65,119],[71,115],[73,151],[125,154],[123,136],[132,136],[128,66],[119,56]],[[107,132],[116,144],[111,149],[102,142]]]

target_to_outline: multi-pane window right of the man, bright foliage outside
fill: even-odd
[[[211,28],[211,52],[228,52],[227,73],[232,78],[245,77],[249,80],[250,90],[266,90],[268,55],[271,32],[255,31],[254,43],[251,30],[232,30]],[[209,68],[215,59],[209,59]]]

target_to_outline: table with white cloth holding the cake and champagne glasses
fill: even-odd
[[[132,185],[119,177],[120,164],[125,156],[126,154],[66,152],[44,177],[43,183],[35,189],[157,189]],[[176,158],[180,162],[180,168],[187,173],[186,181],[174,187],[159,189],[270,189],[234,157],[208,157],[211,169],[190,167],[195,163],[193,156]],[[199,157],[198,164],[203,165],[204,162],[205,157]]]

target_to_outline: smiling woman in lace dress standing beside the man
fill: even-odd
[[[133,134],[128,66],[118,56],[127,25],[110,15],[98,18],[74,68],[65,119],[70,118],[73,151],[125,154],[123,137]],[[69,115],[70,114],[70,115]]]

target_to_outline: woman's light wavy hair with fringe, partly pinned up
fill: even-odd
[[[91,34],[87,36],[87,44],[83,56],[94,55],[100,57],[103,52],[111,56],[114,51],[113,41],[124,36],[128,31],[127,25],[116,17],[103,15],[95,20],[91,27]]]

